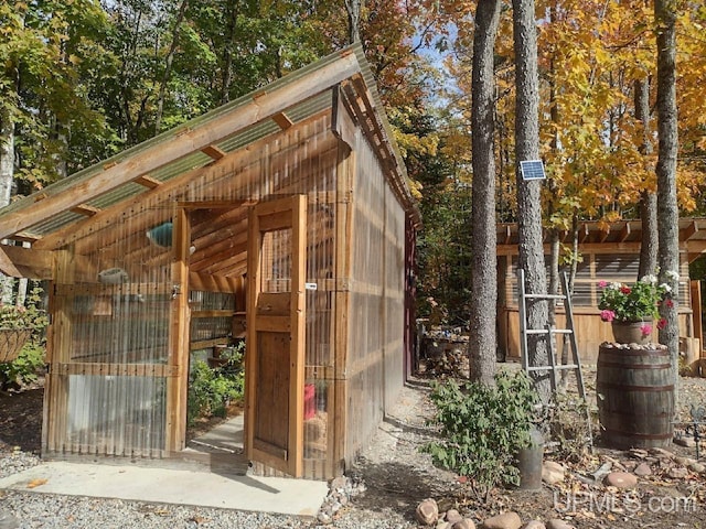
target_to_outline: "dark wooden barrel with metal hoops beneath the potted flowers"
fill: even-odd
[[[665,447],[674,434],[674,370],[666,347],[603,344],[596,393],[601,439],[616,449]]]

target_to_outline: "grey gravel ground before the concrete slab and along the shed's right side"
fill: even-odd
[[[403,389],[372,446],[351,472],[353,481],[364,486],[353,492],[355,496],[333,516],[333,522],[325,526],[317,520],[259,512],[0,490],[0,529],[14,527],[7,520],[3,522],[3,514],[17,518],[22,529],[414,528],[417,527],[414,521],[417,503],[439,492],[439,484],[452,483],[450,474],[435,468],[430,458],[418,451],[418,446],[431,439],[425,425],[432,411],[426,400],[427,392],[425,381],[413,381]],[[2,419],[0,425],[7,427]],[[0,477],[39,463],[35,454],[0,441]]]

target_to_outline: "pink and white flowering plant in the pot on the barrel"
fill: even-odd
[[[645,276],[632,287],[607,281],[600,281],[598,287],[603,289],[598,303],[598,307],[601,309],[600,319],[603,322],[657,320],[657,328],[664,328],[666,322],[664,319],[660,320],[660,305],[664,302],[667,306],[672,306],[673,302],[670,299],[672,288],[667,283],[657,284],[655,276]],[[652,333],[652,326],[649,323],[643,323],[643,334]]]

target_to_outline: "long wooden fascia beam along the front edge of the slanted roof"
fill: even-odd
[[[3,215],[0,239],[17,234],[43,219],[57,215],[93,197],[132,182],[140,175],[228,138],[253,123],[281,112],[309,99],[360,72],[354,53],[341,53],[340,58],[322,65],[309,75],[292,79],[271,91],[261,93],[247,104],[236,104],[215,111],[208,119],[184,133],[171,133],[138,150],[125,163],[76,182],[43,201],[28,204]],[[235,102],[235,101],[234,101]],[[183,128],[188,125],[183,126]],[[183,130],[183,129],[182,129]]]

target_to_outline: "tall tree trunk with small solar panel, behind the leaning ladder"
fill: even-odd
[[[513,40],[515,50],[515,174],[517,179],[517,212],[520,261],[524,269],[528,293],[544,294],[547,278],[542,244],[541,181],[524,181],[520,162],[539,158],[539,79],[537,75],[537,33],[534,0],[513,0]],[[527,304],[528,328],[545,328],[546,301]],[[548,365],[546,336],[528,337],[530,365]],[[552,397],[548,371],[533,371],[532,378],[543,402]]]

